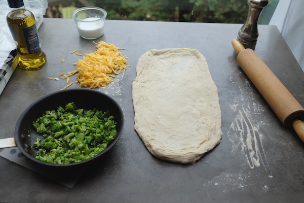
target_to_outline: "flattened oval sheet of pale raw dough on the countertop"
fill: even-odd
[[[194,164],[220,143],[217,87],[199,51],[147,51],[137,62],[136,74],[134,128],[151,154]]]

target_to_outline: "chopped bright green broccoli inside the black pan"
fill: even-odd
[[[46,111],[33,122],[45,138],[35,138],[36,159],[48,163],[66,164],[89,159],[117,137],[116,122],[108,111],[84,111],[74,103],[64,108]]]

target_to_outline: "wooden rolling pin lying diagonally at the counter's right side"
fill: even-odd
[[[252,49],[245,49],[237,40],[233,40],[232,45],[238,53],[237,61],[247,77],[284,126],[292,126],[304,142],[304,108]]]

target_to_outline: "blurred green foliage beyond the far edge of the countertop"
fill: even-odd
[[[244,23],[247,0],[87,0],[104,8],[108,19]],[[81,7],[79,1],[65,1]],[[268,24],[279,0],[269,0],[259,24]]]

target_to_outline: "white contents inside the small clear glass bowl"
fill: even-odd
[[[85,39],[96,39],[103,35],[104,33],[104,20],[98,22],[90,22],[95,21],[100,18],[86,18],[78,24],[78,32],[79,35]]]

